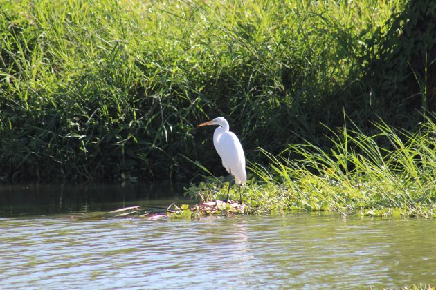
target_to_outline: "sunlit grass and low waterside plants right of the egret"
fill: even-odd
[[[263,151],[269,166],[251,164],[255,178],[243,191],[251,211],[436,217],[435,122],[427,119],[417,133],[383,122],[374,127],[373,135],[342,128],[328,149],[289,145],[277,157]],[[213,200],[226,195],[226,186],[201,184],[188,193]]]

